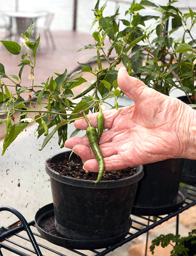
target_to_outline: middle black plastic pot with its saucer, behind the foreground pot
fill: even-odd
[[[177,210],[185,200],[184,196],[178,198],[183,162],[184,159],[167,159],[144,165],[132,213],[162,215]]]

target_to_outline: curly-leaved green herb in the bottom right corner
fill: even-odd
[[[167,235],[160,235],[159,237],[156,237],[150,246],[150,251],[152,254],[154,254],[154,250],[156,246],[161,245],[163,248],[167,247],[169,244],[172,245],[173,249],[170,252],[170,256],[176,256],[177,254],[183,255],[183,256],[190,256],[189,252],[190,249],[185,245],[186,241],[190,241],[191,244],[195,245],[196,248],[196,229],[193,229],[191,232],[189,232],[189,236],[187,237],[180,237],[180,235],[173,235],[173,234],[167,234]],[[176,243],[176,245],[173,245],[172,243]],[[192,255],[192,254],[191,254]],[[196,253],[194,254],[194,256]]]

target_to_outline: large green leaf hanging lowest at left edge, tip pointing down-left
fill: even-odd
[[[16,139],[17,135],[20,134],[30,123],[16,123],[12,126],[10,136],[3,145],[2,156],[4,155],[7,147]]]

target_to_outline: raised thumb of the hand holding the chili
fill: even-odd
[[[129,76],[125,68],[120,68],[118,72],[118,85],[122,92],[134,102],[144,100],[146,98],[146,91],[151,90],[141,80]]]

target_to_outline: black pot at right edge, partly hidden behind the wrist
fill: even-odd
[[[178,97],[186,104],[190,104],[186,96]],[[196,184],[196,160],[185,159],[180,181],[189,185]]]

